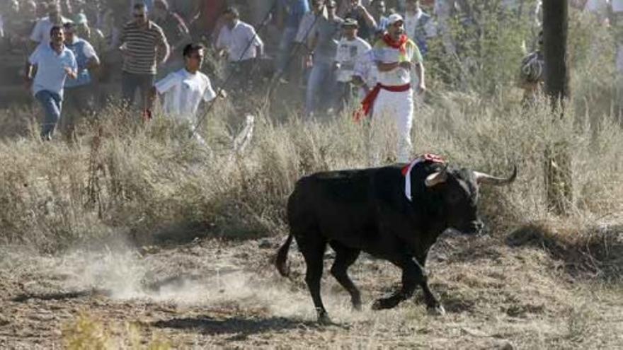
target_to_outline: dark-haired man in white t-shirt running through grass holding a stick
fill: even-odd
[[[205,141],[195,132],[199,105],[201,101],[210,102],[217,97],[210,78],[200,72],[204,51],[205,48],[200,44],[186,45],[183,50],[184,68],[156,82],[149,93],[150,106],[153,105],[156,94],[164,95],[164,113],[187,125],[201,144],[205,144]],[[225,97],[224,91],[220,95]],[[149,110],[147,115],[151,114]]]

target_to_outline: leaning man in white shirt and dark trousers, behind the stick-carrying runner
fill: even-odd
[[[223,16],[226,24],[221,28],[216,47],[221,57],[227,57],[236,90],[246,90],[253,59],[263,55],[264,43],[252,25],[240,21],[236,8],[225,9]]]

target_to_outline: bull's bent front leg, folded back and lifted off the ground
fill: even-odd
[[[391,309],[396,307],[401,301],[413,296],[413,291],[418,285],[425,283],[426,276],[423,269],[411,257],[400,257],[399,259],[389,259],[392,264],[402,269],[402,288],[388,298],[377,299],[372,304],[373,310]]]

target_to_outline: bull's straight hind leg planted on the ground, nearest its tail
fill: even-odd
[[[301,238],[301,239],[299,239]],[[326,250],[326,240],[320,235],[304,235],[297,236],[297,244],[302,252],[307,265],[305,273],[305,283],[311,293],[311,300],[314,301],[316,313],[318,313],[318,322],[329,324],[329,319],[322,298],[320,296],[320,280],[322,279],[322,269],[324,267],[324,251]]]

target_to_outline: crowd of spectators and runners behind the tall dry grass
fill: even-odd
[[[604,21],[623,13],[619,0],[572,2]],[[499,5],[532,13],[539,25],[539,1]],[[25,80],[44,111],[46,140],[59,120],[71,135],[76,116],[93,115],[110,98],[99,87],[115,74],[122,103],[150,119],[162,100],[164,113],[193,132],[201,101],[249,93],[258,59],[271,57],[271,83],[303,87],[306,117],[350,108],[373,123],[389,120],[398,161],[408,161],[429,42],[455,54],[449,23],[474,23],[474,11],[465,0],[4,0],[0,38],[2,49],[29,54]],[[224,76],[209,74],[219,89],[201,72],[208,51],[227,62]],[[520,71],[534,95],[538,49]]]

